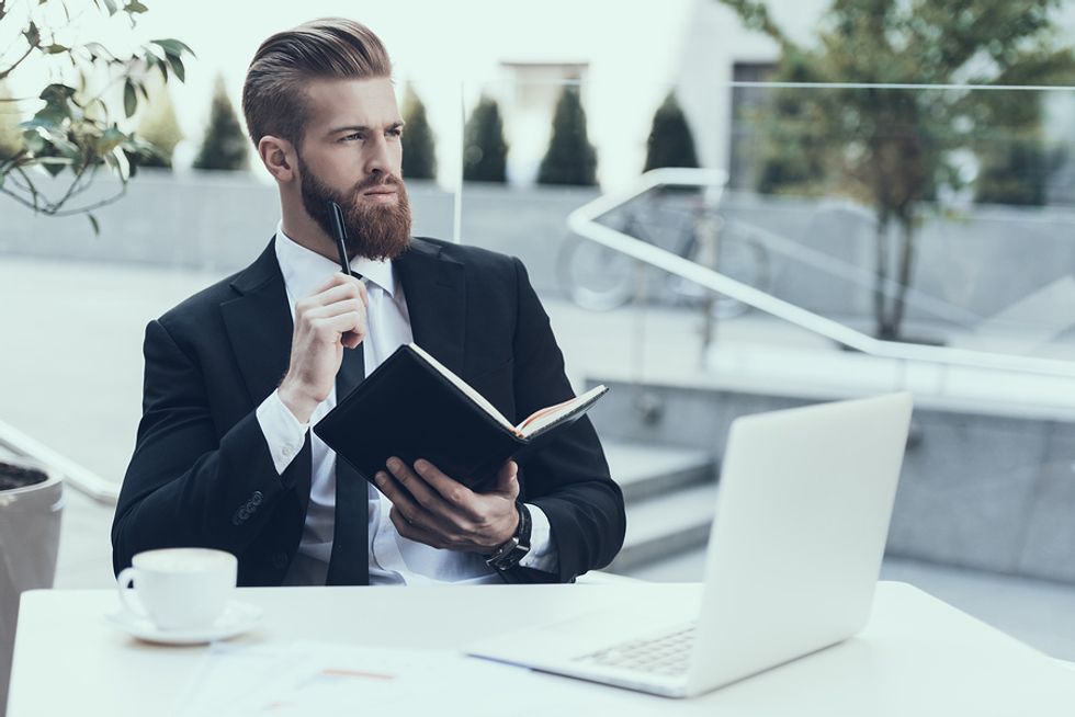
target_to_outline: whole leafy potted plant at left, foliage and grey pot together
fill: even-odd
[[[93,7],[128,27],[148,10],[138,0],[93,0]],[[149,100],[155,75],[183,81],[183,58],[193,53],[166,38],[116,55],[81,38],[76,23],[84,18],[64,0],[0,0],[0,118],[9,128],[12,117],[24,120],[0,141],[0,194],[45,216],[86,214],[97,232],[92,210],[118,200],[139,161],[157,153],[121,122],[135,114],[139,96]],[[122,105],[122,115],[113,105]],[[102,170],[120,180],[118,192],[86,200]],[[0,715],[19,594],[53,584],[61,498],[59,475],[0,455]]]

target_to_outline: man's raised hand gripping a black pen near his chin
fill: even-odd
[[[280,384],[280,399],[302,423],[328,398],[343,361],[343,348],[365,339],[365,286],[354,276],[332,274],[313,296],[295,305],[291,365]]]

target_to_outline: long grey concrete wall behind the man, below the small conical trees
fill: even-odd
[[[452,239],[454,194],[411,182],[415,232]],[[103,195],[115,190],[100,182]],[[566,217],[597,196],[591,189],[466,184],[461,236],[466,243],[520,257],[544,294],[561,294],[556,259]],[[682,200],[680,200],[682,201]],[[676,202],[676,200],[671,200]],[[868,325],[872,307],[873,225],[868,212],[815,200],[729,195],[723,205],[736,236],[760,242],[767,288],[819,314]],[[101,236],[82,216],[34,216],[0,196],[0,255],[151,263],[222,273],[246,265],[279,220],[275,189],[246,175],[173,177],[144,172],[120,203],[95,213]],[[966,216],[927,219],[920,230],[908,318],[971,328],[1075,268],[1075,212],[974,207]],[[659,276],[649,296],[667,298]],[[1064,307],[1060,307],[1064,308]],[[1075,312],[1064,310],[1073,319]],[[1040,317],[1039,317],[1040,318]],[[1053,323],[1066,322],[1064,316]]]

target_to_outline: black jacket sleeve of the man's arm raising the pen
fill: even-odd
[[[112,525],[113,567],[163,547],[239,555],[293,489],[294,471],[276,474],[256,411],[217,432],[201,367],[159,321],[146,328],[144,353],[143,417]]]

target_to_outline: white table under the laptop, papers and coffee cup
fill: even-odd
[[[264,610],[238,645],[315,639],[457,648],[512,619],[545,622],[613,602],[697,600],[699,585],[245,589]],[[206,647],[139,642],[109,625],[114,592],[32,591],[22,598],[8,717],[169,714]],[[1075,714],[1075,672],[930,595],[879,584],[867,628],[847,642],[692,701],[671,701],[534,674],[555,714],[943,715]],[[483,685],[475,698],[497,698]],[[514,701],[518,705],[518,699]],[[530,702],[528,701],[528,704]],[[530,706],[533,706],[532,703]],[[512,702],[503,714],[518,714]],[[444,705],[445,715],[466,705]],[[542,710],[542,714],[553,713]]]

